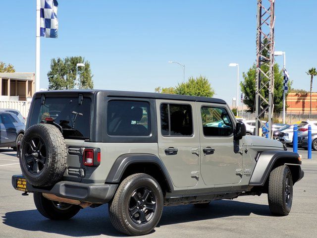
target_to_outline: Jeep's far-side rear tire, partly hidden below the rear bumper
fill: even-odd
[[[54,202],[43,197],[42,193],[35,192],[33,194],[33,199],[38,211],[46,218],[52,220],[68,220],[75,216],[81,209],[78,205],[72,205],[68,203],[63,203],[65,208],[59,209]]]

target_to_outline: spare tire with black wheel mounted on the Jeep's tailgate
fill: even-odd
[[[67,150],[62,133],[52,124],[29,127],[21,141],[20,166],[34,186],[51,186],[60,181],[66,169]]]

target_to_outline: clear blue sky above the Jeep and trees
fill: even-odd
[[[206,76],[230,105],[236,68],[256,59],[256,0],[58,0],[57,39],[41,39],[41,83],[50,60],[83,56],[96,89],[153,92],[186,77]],[[0,1],[0,60],[35,71],[36,0]],[[275,50],[286,52],[293,87],[309,90],[317,67],[316,0],[276,0]],[[282,65],[282,57],[275,58]],[[317,82],[313,90],[317,91]]]

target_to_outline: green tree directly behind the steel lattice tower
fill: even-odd
[[[268,70],[268,67],[265,65],[262,68],[264,72]],[[256,64],[253,64],[252,67],[248,70],[248,72],[243,72],[242,77],[244,81],[240,83],[241,91],[243,92],[244,100],[243,103],[248,106],[248,112],[255,111],[255,102],[256,102]],[[273,95],[273,102],[274,102],[274,112],[280,112],[283,109],[283,70],[280,70],[278,64],[274,64],[274,95]],[[266,83],[268,79],[263,78],[264,82]],[[290,89],[292,85],[292,81],[288,81],[288,88]],[[262,89],[261,94],[264,97],[267,97],[267,90]],[[287,94],[286,94],[287,95]]]

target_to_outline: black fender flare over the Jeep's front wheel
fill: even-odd
[[[257,157],[258,161],[253,170],[249,185],[252,186],[263,186],[266,179],[269,176],[275,162],[279,159],[285,159],[284,164],[292,164],[298,167],[299,175],[301,175],[301,161],[299,161],[299,154],[291,151],[282,150],[266,150],[261,152]],[[301,176],[300,176],[301,177]],[[296,179],[298,181],[301,178]]]

